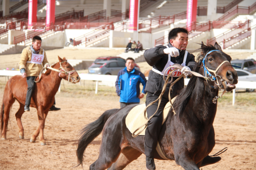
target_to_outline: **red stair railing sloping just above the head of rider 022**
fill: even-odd
[[[50,24],[49,26],[43,26],[38,29],[35,29],[34,31],[21,34],[20,36],[14,36],[13,42],[14,44],[24,42],[24,44],[26,45],[27,43],[32,42],[32,39],[34,36],[40,36],[42,38],[44,36],[48,36],[57,31],[63,31],[64,29],[65,29],[64,24],[59,24],[59,25]]]

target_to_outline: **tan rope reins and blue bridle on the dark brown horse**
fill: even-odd
[[[213,52],[213,51],[219,51],[219,50],[212,50],[212,51],[208,52],[208,53],[205,55],[204,59],[203,59],[203,68],[204,68],[204,70],[205,70],[205,75],[206,75],[206,73],[207,73],[207,74],[209,74],[209,75],[211,76],[211,78],[206,77],[206,76],[203,76],[203,75],[199,74],[198,72],[192,72],[192,71],[189,71],[189,70],[185,70],[185,72],[191,72],[193,75],[195,75],[195,76],[197,76],[197,77],[204,78],[204,79],[206,80],[206,82],[207,82],[207,80],[212,81],[212,82],[215,82],[216,80],[218,81],[218,78],[217,78],[217,77],[219,77],[219,78],[221,78],[221,77],[220,77],[219,75],[216,75],[216,74],[217,74],[217,71],[219,70],[219,68],[220,68],[225,62],[229,62],[229,61],[224,61],[224,62],[222,62],[222,63],[218,66],[218,68],[217,68],[216,70],[208,69],[208,68],[205,66],[205,58],[206,58],[206,56],[207,56],[209,53],[211,53],[211,52]],[[165,75],[165,72],[168,71],[168,70],[171,69],[171,68],[175,68],[175,69],[173,69],[173,70],[168,74],[167,78],[165,79],[165,76],[164,76],[164,75]],[[172,90],[172,86],[173,86],[176,82],[178,82],[178,81],[183,77],[184,74],[182,74],[179,78],[177,78],[177,79],[175,80],[175,82],[172,82],[172,81],[173,81],[173,77],[172,77],[171,81],[168,82],[168,80],[169,80],[170,76],[172,76],[172,72],[174,72],[175,70],[178,70],[178,69],[181,70],[182,68],[183,68],[182,65],[180,65],[180,64],[174,64],[174,65],[168,67],[167,69],[165,69],[165,72],[164,72],[164,75],[163,75],[163,79],[164,79],[164,81],[165,81],[165,84],[164,84],[164,86],[163,86],[162,92],[161,92],[161,94],[159,95],[159,97],[158,97],[155,101],[152,101],[152,102],[145,108],[145,110],[144,110],[144,118],[145,118],[145,119],[148,119],[148,121],[150,121],[151,118],[156,114],[156,112],[158,111],[158,108],[159,108],[159,106],[160,106],[161,100],[162,100],[162,95],[163,95],[164,92],[165,92],[165,89],[166,89],[166,87],[167,87],[167,84],[170,84],[170,83],[171,83],[171,86],[170,86],[168,98],[169,98],[170,104],[171,104],[171,106],[172,106],[172,111],[173,111],[174,115],[176,115],[176,112],[175,112],[175,110],[174,110],[174,108],[173,108],[173,105],[172,105],[172,99],[171,99],[170,92],[171,92],[171,90]],[[213,72],[214,76],[213,76],[209,71],[210,71],[210,72]],[[225,81],[225,80],[223,80],[223,81],[222,81],[222,80],[223,80],[223,79],[221,78],[221,84],[219,84],[219,82],[218,82],[218,84],[215,82],[215,84],[218,85],[219,88],[220,88],[220,85],[222,85],[222,82]],[[208,83],[208,82],[207,82],[207,83]],[[226,92],[226,90],[224,90],[221,95],[214,97],[214,98],[212,99],[212,102],[213,102],[214,104],[216,104],[216,101],[218,100],[218,98],[222,98],[222,95],[224,95],[225,92]],[[158,101],[158,100],[159,100],[159,101]],[[147,118],[147,117],[146,117],[147,108],[148,108],[149,106],[153,105],[156,101],[158,101],[158,107],[157,107],[155,113],[154,113],[151,117]],[[145,128],[148,127],[148,121],[147,121],[145,124],[143,124],[141,127],[138,127],[138,128],[131,134],[132,137],[137,137],[139,134],[141,134],[141,132],[144,131]],[[139,131],[137,134],[135,134],[135,132],[137,132],[138,130],[140,130],[142,127],[144,127],[144,128],[143,128],[141,131]]]

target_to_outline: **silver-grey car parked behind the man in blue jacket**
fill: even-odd
[[[125,68],[125,62],[121,61],[99,61],[91,65],[88,70],[89,74],[102,74],[102,75],[118,75],[121,69]],[[138,67],[135,67],[138,69]]]

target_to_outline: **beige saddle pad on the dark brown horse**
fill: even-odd
[[[175,101],[175,98],[172,99],[172,103]],[[145,124],[148,121],[147,119],[144,118],[145,108],[146,108],[145,104],[137,105],[133,109],[131,109],[131,111],[128,113],[128,115],[125,119],[125,124],[131,133],[133,133],[138,127],[141,127],[143,124]],[[171,103],[168,102],[165,105],[165,109],[163,112],[162,124],[164,124],[171,108],[172,108]],[[138,130],[135,134],[137,134],[139,131],[141,131],[144,127],[141,127],[141,129]],[[144,129],[144,131],[142,131],[141,134],[139,134],[139,135],[145,135],[145,131],[146,131],[146,129]]]

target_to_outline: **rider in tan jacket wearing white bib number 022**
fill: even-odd
[[[30,111],[30,101],[35,88],[35,78],[39,75],[43,67],[50,67],[44,49],[41,49],[42,39],[40,36],[34,36],[32,46],[27,46],[22,50],[20,57],[20,73],[23,78],[27,78],[27,95],[24,111]],[[58,111],[54,104],[49,111]]]

